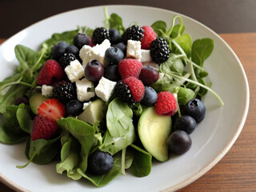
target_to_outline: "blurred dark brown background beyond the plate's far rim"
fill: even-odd
[[[194,18],[217,33],[256,32],[256,0],[0,0],[0,38],[67,10],[128,4],[173,10]]]

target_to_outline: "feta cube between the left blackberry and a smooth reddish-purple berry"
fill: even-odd
[[[70,62],[70,65],[66,66],[65,72],[70,82],[76,82],[85,75],[84,69],[78,59]]]

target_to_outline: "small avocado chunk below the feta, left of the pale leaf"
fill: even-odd
[[[106,116],[106,104],[102,99],[98,98],[90,103],[90,106],[78,115],[78,119],[94,125],[94,122],[102,121]]]

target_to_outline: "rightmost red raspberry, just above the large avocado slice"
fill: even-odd
[[[168,91],[162,91],[158,94],[158,100],[155,103],[155,112],[163,116],[172,116],[178,110],[177,100],[174,94]]]

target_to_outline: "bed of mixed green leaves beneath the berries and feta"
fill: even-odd
[[[126,30],[122,18],[118,14],[106,13],[104,26],[114,28],[123,34]],[[177,20],[179,20],[177,24]],[[158,38],[165,38],[170,46],[170,58],[159,66],[160,78],[152,87],[154,90],[169,91],[177,94],[178,104],[185,105],[191,99],[203,97],[209,91],[214,94],[221,105],[222,99],[213,90],[205,78],[208,72],[203,69],[206,58],[214,50],[214,41],[210,38],[197,39],[192,42],[190,34],[185,33],[182,18],[175,16],[168,29],[166,22],[154,22],[151,27]],[[152,155],[141,145],[138,139],[138,124],[144,112],[150,113],[150,108],[141,103],[128,105],[119,98],[110,102],[102,102],[106,110],[101,121],[82,122],[78,118],[61,118],[58,133],[50,139],[31,140],[33,113],[30,106],[14,105],[17,98],[26,95],[28,98],[37,87],[37,76],[47,59],[51,57],[51,47],[60,41],[72,43],[78,32],[92,36],[93,29],[83,26],[61,34],[53,34],[42,42],[38,51],[22,45],[15,46],[15,54],[19,66],[13,76],[0,82],[0,113],[3,118],[0,124],[0,142],[15,144],[26,142],[25,155],[28,163],[18,168],[26,167],[30,162],[47,164],[57,162],[58,174],[66,173],[74,180],[86,178],[95,186],[104,186],[119,174],[126,174],[129,169],[137,177],[150,174]],[[187,67],[186,67],[187,66]],[[188,68],[188,70],[186,70]],[[181,111],[178,110],[180,114]],[[140,122],[141,121],[141,122]],[[164,119],[171,126],[171,119]],[[102,128],[106,127],[106,129]],[[169,129],[168,128],[168,129]],[[169,131],[171,131],[169,129]],[[170,134],[170,133],[169,133]],[[113,156],[113,167],[107,174],[95,175],[87,171],[88,156],[96,150],[107,151]],[[154,153],[154,151],[152,152]],[[168,154],[167,154],[168,155]],[[159,158],[166,161],[166,157]],[[158,159],[158,160],[159,160]]]

